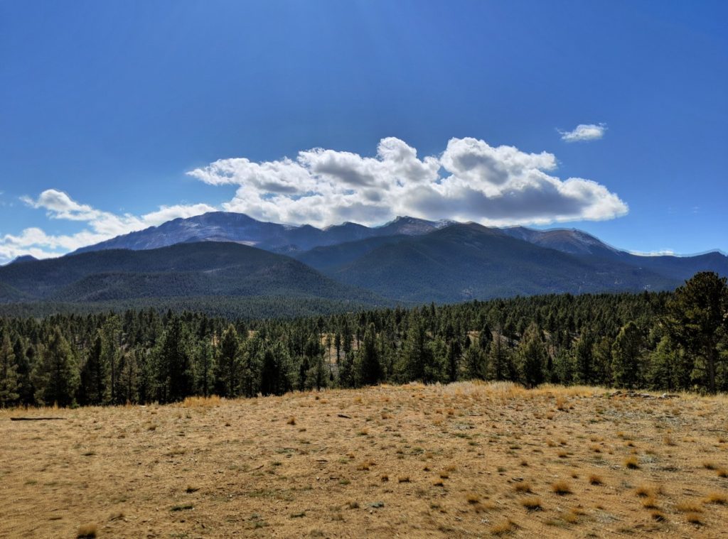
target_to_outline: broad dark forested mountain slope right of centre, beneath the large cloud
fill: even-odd
[[[338,281],[413,302],[668,290],[679,282],[617,260],[539,247],[475,223],[381,243],[321,247],[315,257],[302,259]],[[358,257],[349,255],[363,247],[373,248]]]

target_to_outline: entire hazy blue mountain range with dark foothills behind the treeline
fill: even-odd
[[[728,275],[728,257],[638,256],[570,229],[413,217],[373,228],[344,223],[320,229],[211,212],[51,260],[15,260],[0,267],[0,303],[124,308],[155,300],[174,306],[191,298],[277,298],[285,316],[300,311],[286,305],[301,301],[352,308],[670,290],[705,270]]]

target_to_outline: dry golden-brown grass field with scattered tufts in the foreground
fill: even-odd
[[[718,538],[727,470],[725,397],[456,383],[4,410],[0,537]]]

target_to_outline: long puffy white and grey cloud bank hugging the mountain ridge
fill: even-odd
[[[579,126],[582,127],[582,126]],[[578,128],[577,128],[578,129]],[[208,185],[235,185],[234,197],[210,204],[160,206],[145,215],[122,215],[76,201],[56,188],[23,197],[50,220],[84,223],[76,233],[50,234],[39,227],[0,236],[0,263],[19,255],[58,256],[122,233],[224,209],[258,220],[318,227],[352,221],[379,225],[397,215],[428,220],[474,221],[488,226],[545,225],[606,220],[625,215],[627,204],[606,186],[555,175],[553,153],[491,146],[471,137],[451,138],[437,156],[417,155],[395,137],[379,141],[376,154],[313,148],[295,159],[219,159],[187,172]]]

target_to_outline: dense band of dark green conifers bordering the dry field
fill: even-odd
[[[548,295],[295,320],[0,319],[0,406],[175,402],[464,379],[728,391],[728,287]]]

